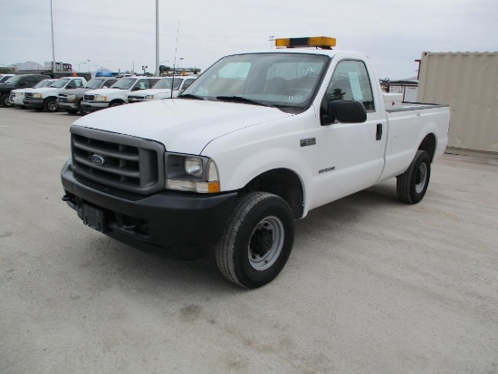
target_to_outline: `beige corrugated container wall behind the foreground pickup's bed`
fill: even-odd
[[[422,53],[417,101],[450,105],[448,147],[498,153],[498,53]]]

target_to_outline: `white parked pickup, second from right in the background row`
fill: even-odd
[[[159,80],[158,77],[121,78],[120,82],[114,84],[111,89],[85,92],[81,107],[92,112],[126,104],[129,92],[148,90]]]

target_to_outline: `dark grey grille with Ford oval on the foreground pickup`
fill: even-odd
[[[72,126],[72,169],[102,185],[147,195],[164,189],[164,147],[152,140]]]

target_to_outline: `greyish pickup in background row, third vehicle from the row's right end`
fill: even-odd
[[[118,82],[118,79],[114,77],[93,78],[89,82],[86,82],[81,89],[59,91],[57,105],[59,109],[66,110],[70,114],[76,114],[78,111],[80,114],[88,114],[89,111],[81,106],[85,92],[107,89],[116,82]]]

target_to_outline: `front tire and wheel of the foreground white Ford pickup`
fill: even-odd
[[[293,242],[294,218],[285,200],[251,192],[237,202],[215,246],[216,264],[230,282],[261,287],[282,271]]]

